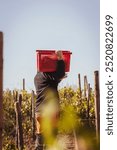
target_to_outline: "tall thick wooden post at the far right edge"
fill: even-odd
[[[96,119],[96,136],[99,139],[100,134],[100,89],[99,89],[99,71],[94,72],[95,83],[95,119]]]

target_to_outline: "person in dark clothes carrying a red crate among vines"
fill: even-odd
[[[57,51],[56,56],[56,71],[38,71],[34,78],[34,84],[37,95],[35,108],[35,150],[44,149],[43,144],[45,142],[44,139],[46,139],[46,134],[47,137],[54,135],[57,126],[57,121],[59,119],[59,94],[57,88],[60,81],[65,77],[65,62],[63,60],[62,51]],[[51,126],[51,131],[49,126]]]

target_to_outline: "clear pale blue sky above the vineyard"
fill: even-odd
[[[77,85],[77,75],[99,70],[99,0],[0,0],[4,32],[4,89],[34,89],[36,49],[70,49],[71,71],[60,86]]]

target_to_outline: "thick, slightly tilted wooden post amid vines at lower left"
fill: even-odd
[[[21,115],[21,106],[18,101],[15,102],[15,111],[16,111],[16,133],[18,139],[18,149],[23,150],[23,129],[22,129],[22,115]]]

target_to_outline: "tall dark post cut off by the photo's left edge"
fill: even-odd
[[[0,32],[0,150],[2,150],[3,130],[3,33]]]

